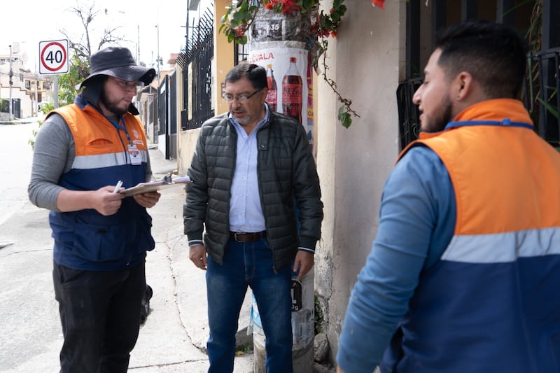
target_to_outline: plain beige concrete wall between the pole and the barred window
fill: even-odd
[[[398,155],[396,89],[405,59],[405,0],[346,1],[330,39],[328,75],[360,118],[337,122],[340,106],[318,77],[317,165],[325,220],[316,251],[316,292],[325,313],[331,359],[356,275],[377,232],[381,190]]]

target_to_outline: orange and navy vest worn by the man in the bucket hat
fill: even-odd
[[[54,111],[66,121],[76,144],[70,171],[59,185],[69,190],[97,190],[116,185],[125,188],[146,181],[148,148],[140,120],[126,113],[113,124],[80,97]],[[129,144],[139,152],[133,165]],[[73,269],[110,271],[138,265],[155,246],[151,216],[132,197],[123,199],[117,213],[103,216],[94,209],[50,212],[54,260]]]

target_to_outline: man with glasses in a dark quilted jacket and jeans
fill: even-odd
[[[321,237],[309,141],[299,122],[270,110],[267,91],[261,66],[228,72],[229,113],[202,125],[188,171],[183,218],[190,260],[207,271],[209,373],[233,371],[247,286],[265,331],[267,372],[293,372],[290,279],[313,267]]]

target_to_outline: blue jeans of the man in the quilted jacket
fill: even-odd
[[[235,333],[247,286],[255,295],[265,332],[267,373],[292,372],[290,279],[289,265],[274,272],[266,239],[248,243],[230,239],[223,265],[208,257],[209,373],[233,372]]]

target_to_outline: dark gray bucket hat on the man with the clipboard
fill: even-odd
[[[140,80],[145,85],[152,83],[155,78],[155,69],[137,65],[130,50],[123,47],[107,47],[94,52],[90,57],[90,68],[90,75],[76,85],[76,90],[87,85],[90,78],[99,75],[113,76],[129,82]]]

